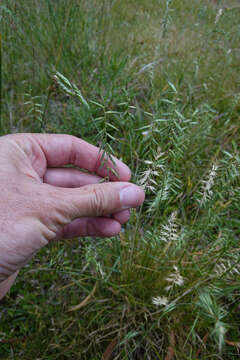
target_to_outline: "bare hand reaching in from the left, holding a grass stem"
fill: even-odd
[[[49,242],[120,232],[144,192],[129,183],[124,163],[114,163],[102,167],[99,149],[70,135],[0,137],[0,298]],[[63,168],[68,164],[76,168]],[[99,183],[109,166],[119,176],[110,172],[110,182]]]

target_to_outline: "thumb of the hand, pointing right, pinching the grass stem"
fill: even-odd
[[[65,213],[69,221],[79,217],[104,216],[136,208],[143,203],[145,197],[139,186],[126,182],[91,184],[81,188],[62,188],[59,191],[59,210]]]

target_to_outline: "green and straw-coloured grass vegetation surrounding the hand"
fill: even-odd
[[[43,249],[0,305],[1,359],[237,359],[240,2],[2,0],[1,134],[79,136],[146,201]]]

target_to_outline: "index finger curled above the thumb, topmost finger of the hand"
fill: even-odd
[[[127,165],[115,157],[111,157],[111,160],[108,156],[103,156],[98,147],[82,139],[65,134],[28,135],[40,146],[47,167],[71,164],[103,177],[109,176],[110,180],[130,180],[131,171]]]

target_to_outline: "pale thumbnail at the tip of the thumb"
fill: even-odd
[[[120,191],[122,209],[137,207],[144,200],[144,191],[136,185],[125,187]]]

